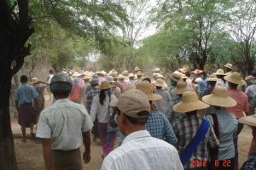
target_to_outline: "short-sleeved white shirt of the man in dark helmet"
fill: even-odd
[[[82,132],[91,129],[93,123],[82,105],[69,99],[57,99],[41,112],[37,137],[53,139],[53,150],[75,150],[82,144]]]

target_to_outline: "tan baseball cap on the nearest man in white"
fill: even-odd
[[[126,116],[146,118],[149,116],[150,105],[147,96],[137,89],[130,89],[121,94],[117,107]],[[141,111],[148,111],[148,115],[139,115]]]

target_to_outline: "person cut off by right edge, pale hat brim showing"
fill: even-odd
[[[241,170],[253,170],[256,168],[256,115],[241,117],[238,122],[251,127],[253,130],[253,140],[248,152],[248,159],[241,167]]]

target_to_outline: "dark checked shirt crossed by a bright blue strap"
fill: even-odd
[[[173,130],[177,136],[177,151],[179,154],[183,152],[185,147],[194,138],[197,129],[201,125],[201,118],[196,115],[186,115],[182,119],[177,120],[173,124]],[[213,131],[212,126],[208,129],[206,138],[202,140],[201,144],[197,146],[184,167],[191,168],[191,162],[195,160],[209,161],[209,150],[208,147],[214,148],[218,145],[218,139]]]

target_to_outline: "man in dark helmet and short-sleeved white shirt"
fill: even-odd
[[[93,124],[85,108],[68,99],[71,89],[72,80],[67,74],[56,74],[50,82],[50,91],[56,101],[39,117],[36,136],[42,139],[46,170],[52,167],[82,170],[79,150],[82,136],[83,160],[84,163],[90,161],[90,129]]]

